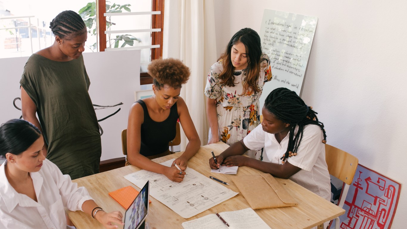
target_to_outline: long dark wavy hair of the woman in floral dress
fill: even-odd
[[[260,58],[261,58],[261,41],[256,31],[250,28],[239,30],[230,39],[225,52],[219,57],[218,61],[222,61],[223,71],[219,74],[221,84],[226,86],[234,86],[234,66],[231,61],[231,51],[234,44],[242,43],[246,48],[247,55],[247,79],[243,83],[243,94],[246,92],[260,92],[257,87],[257,81],[260,73]]]

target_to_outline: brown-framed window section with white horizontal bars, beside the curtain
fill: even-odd
[[[147,65],[151,60],[162,56],[164,0],[138,0],[135,4],[137,7],[126,4],[118,7],[118,4],[99,0],[97,13],[99,50],[140,48],[142,62],[140,84],[152,84],[152,78],[147,73]],[[137,11],[133,12],[131,9],[135,8]],[[114,12],[115,9],[122,13]],[[106,13],[107,11],[109,13]],[[105,40],[106,43],[103,42]]]

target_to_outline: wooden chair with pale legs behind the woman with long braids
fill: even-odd
[[[343,207],[359,160],[352,154],[325,144],[325,161],[329,174],[345,183],[338,203],[339,207]],[[335,229],[339,229],[339,217],[335,218]]]

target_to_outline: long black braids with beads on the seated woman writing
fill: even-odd
[[[304,126],[306,125],[313,124],[319,126],[324,134],[322,143],[326,143],[324,123],[318,121],[317,112],[313,111],[312,107],[307,106],[294,91],[287,88],[276,88],[267,96],[264,106],[269,112],[276,115],[278,119],[291,125],[287,151],[280,158],[282,163],[288,157],[297,155]],[[298,125],[298,132],[294,136],[296,125]]]

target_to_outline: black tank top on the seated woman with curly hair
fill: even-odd
[[[170,115],[162,122],[156,122],[150,118],[144,101],[140,99],[136,103],[140,103],[144,110],[144,122],[141,124],[140,154],[153,156],[165,152],[168,150],[168,142],[172,141],[177,133],[177,103],[174,103],[170,109]]]

